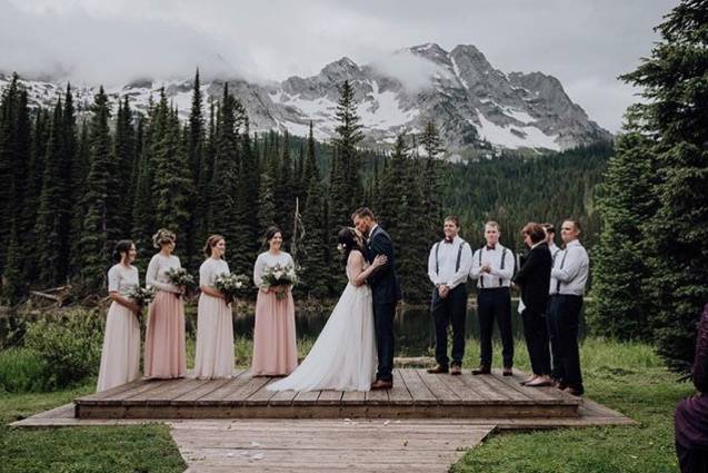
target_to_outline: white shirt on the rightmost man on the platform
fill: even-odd
[[[580,242],[574,239],[556,255],[550,270],[550,294],[582,296],[588,282],[590,260]]]

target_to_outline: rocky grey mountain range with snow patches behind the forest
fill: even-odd
[[[412,71],[412,73],[411,73]],[[9,75],[0,75],[0,87]],[[281,82],[256,83],[228,79],[229,89],[246,106],[251,130],[286,129],[307,135],[315,124],[318,139],[328,139],[336,127],[336,108],[343,80],[352,82],[367,144],[392,144],[399,132],[420,132],[428,120],[438,125],[451,155],[489,147],[565,150],[609,140],[609,131],[590,120],[574,104],[558,79],[542,72],[505,73],[495,69],[473,46],[446,51],[436,43],[406,48],[389,61],[359,66],[341,58],[312,77],[290,77]],[[223,79],[202,83],[208,97],[218,99]],[[66,82],[23,80],[34,106],[49,105]],[[164,87],[167,96],[186,118],[191,79],[132,81],[107,88],[118,98],[129,96],[141,111],[150,96]],[[76,88],[79,108],[86,109],[96,86]]]

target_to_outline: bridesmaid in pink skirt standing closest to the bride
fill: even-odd
[[[267,266],[286,266],[292,265],[293,262],[288,253],[280,249],[280,229],[268,228],[266,242],[269,249],[258,255],[253,267],[253,282],[259,290],[256,300],[251,375],[282,376],[292,373],[298,366],[292,292],[289,286],[268,287],[263,284],[262,276]],[[278,292],[285,292],[286,297],[278,299]]]

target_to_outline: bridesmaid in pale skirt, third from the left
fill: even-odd
[[[229,273],[223,260],[226,240],[211,235],[205,246],[207,259],[199,267],[199,308],[197,312],[197,355],[195,377],[209,380],[231,377],[233,372],[233,322],[231,303],[213,285],[222,273]]]

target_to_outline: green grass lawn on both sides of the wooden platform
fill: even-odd
[[[239,364],[249,349],[237,343]],[[307,353],[310,343],[301,343]],[[498,349],[498,347],[497,347]],[[479,346],[469,342],[465,368],[478,364]],[[495,364],[500,365],[500,353]],[[667,473],[677,472],[674,407],[692,392],[676,383],[648,345],[588,339],[581,361],[587,396],[616,408],[638,426],[507,433],[470,450],[455,472]],[[245,363],[246,362],[246,363]],[[526,346],[516,346],[516,364],[528,371]],[[91,393],[91,382],[76,390],[39,394],[0,394],[0,471],[182,472],[186,467],[163,425],[19,430],[8,424]]]

